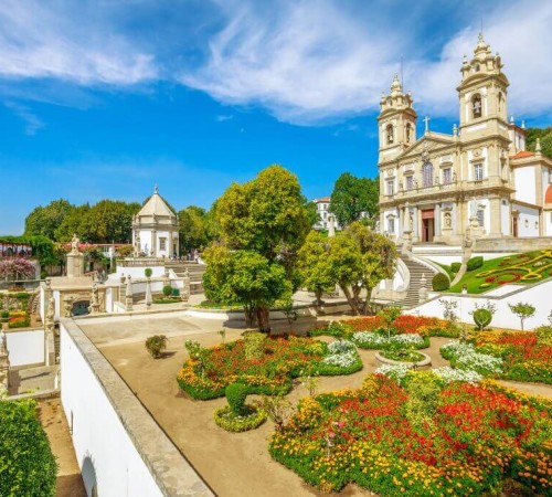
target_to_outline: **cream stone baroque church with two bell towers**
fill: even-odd
[[[417,115],[399,77],[381,98],[380,231],[395,241],[458,245],[473,239],[552,236],[552,160],[526,150],[508,121],[508,78],[481,34],[464,59],[459,126],[416,140]]]

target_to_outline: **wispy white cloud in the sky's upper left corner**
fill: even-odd
[[[55,7],[54,7],[55,6]],[[0,2],[0,76],[128,85],[158,76],[153,56],[85,3]]]

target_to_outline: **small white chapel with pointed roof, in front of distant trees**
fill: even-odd
[[[178,215],[159,194],[144,202],[132,220],[132,245],[135,256],[172,257],[179,255]]]

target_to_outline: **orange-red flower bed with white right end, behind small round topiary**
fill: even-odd
[[[248,393],[282,394],[291,389],[291,379],[301,371],[314,374],[351,374],[362,369],[362,360],[353,343],[337,341],[327,345],[311,338],[267,338],[263,357],[245,358],[243,340],[206,349],[202,363],[184,362],[178,374],[182,390],[194,399],[224,395],[231,383],[243,383]]]

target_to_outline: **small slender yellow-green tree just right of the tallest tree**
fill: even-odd
[[[328,237],[315,230],[308,234],[299,250],[298,267],[302,285],[315,293],[317,305],[322,304],[322,294],[336,286],[326,261],[329,250]]]

